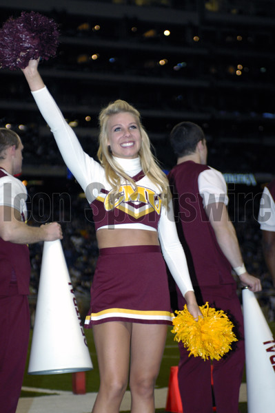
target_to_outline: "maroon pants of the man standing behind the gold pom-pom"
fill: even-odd
[[[234,324],[238,341],[232,350],[213,364],[214,403],[217,413],[237,413],[238,396],[245,363],[243,314],[234,285],[201,288],[203,301],[224,310]],[[181,304],[183,301],[181,300]],[[179,390],[184,413],[212,413],[211,361],[188,357],[189,352],[179,343]]]

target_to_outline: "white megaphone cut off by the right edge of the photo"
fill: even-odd
[[[252,291],[243,290],[249,413],[275,412],[275,339]]]

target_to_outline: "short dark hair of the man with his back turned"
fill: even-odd
[[[192,122],[178,123],[170,133],[170,143],[178,158],[194,153],[197,143],[203,139],[203,129]]]

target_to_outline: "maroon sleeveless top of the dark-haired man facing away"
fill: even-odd
[[[168,175],[179,238],[194,287],[234,284],[230,262],[218,246],[198,191],[198,176],[205,169],[210,168],[186,161],[176,165]]]

